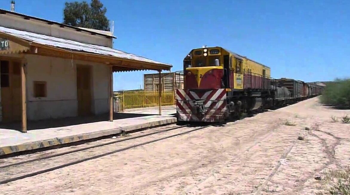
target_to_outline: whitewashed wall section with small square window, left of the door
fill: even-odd
[[[77,116],[76,66],[71,60],[27,55],[27,118]],[[34,97],[33,81],[47,82],[47,97]]]

